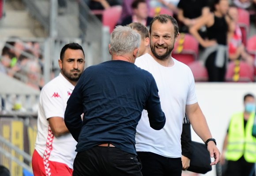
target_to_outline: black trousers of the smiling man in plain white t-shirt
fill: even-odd
[[[137,152],[143,176],[181,176],[181,158],[167,158],[151,152]]]

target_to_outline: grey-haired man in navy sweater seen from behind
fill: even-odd
[[[130,27],[117,26],[112,60],[88,67],[68,99],[64,121],[78,141],[73,176],[142,176],[135,148],[142,110],[155,130],[166,118],[153,76],[134,65],[140,41]]]

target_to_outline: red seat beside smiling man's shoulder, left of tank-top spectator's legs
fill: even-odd
[[[196,82],[208,81],[208,73],[205,66],[203,66],[203,62],[194,61],[189,63],[188,66],[191,69]]]

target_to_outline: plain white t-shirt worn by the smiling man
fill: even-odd
[[[169,158],[181,157],[181,132],[185,105],[197,103],[195,81],[188,66],[173,59],[174,66],[165,67],[149,54],[136,59],[136,66],[149,71],[158,86],[166,125],[157,131],[150,127],[143,110],[137,126],[136,151],[147,151]]]

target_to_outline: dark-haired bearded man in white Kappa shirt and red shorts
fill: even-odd
[[[83,48],[76,43],[66,44],[60,52],[59,76],[42,88],[32,157],[34,176],[72,176],[77,142],[64,123],[64,113],[84,64]]]

